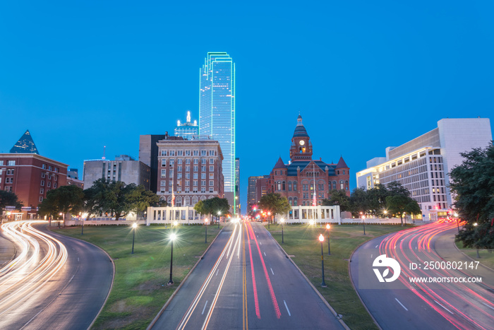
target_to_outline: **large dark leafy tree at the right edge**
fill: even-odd
[[[456,240],[464,247],[494,248],[494,146],[460,153],[464,158],[450,172],[454,207],[466,225]],[[476,225],[475,225],[476,224]]]

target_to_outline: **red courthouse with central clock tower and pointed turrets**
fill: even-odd
[[[278,159],[267,182],[268,192],[287,197],[292,206],[311,206],[314,201],[320,205],[333,189],[350,196],[350,169],[343,158],[337,164],[327,164],[313,160],[312,154],[311,139],[299,115],[291,138],[290,162],[284,164],[281,157]]]

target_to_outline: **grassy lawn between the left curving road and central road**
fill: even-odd
[[[216,225],[207,226],[207,242],[216,237]],[[179,226],[174,242],[173,280],[168,286],[170,252],[164,225],[140,226],[135,232],[134,254],[131,228],[123,226],[85,226],[58,229],[104,249],[114,259],[116,273],[112,292],[93,329],[145,329],[209,244],[205,244],[204,226]]]

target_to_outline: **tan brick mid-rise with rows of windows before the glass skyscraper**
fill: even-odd
[[[224,197],[222,150],[218,141],[167,136],[157,142],[157,194],[169,206],[194,206]]]

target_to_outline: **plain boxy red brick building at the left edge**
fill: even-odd
[[[0,153],[0,189],[18,196],[25,218],[35,218],[47,191],[67,185],[67,167],[36,153]]]

